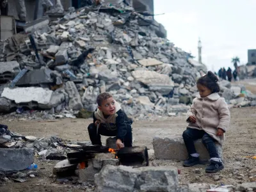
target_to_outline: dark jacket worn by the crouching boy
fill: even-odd
[[[117,130],[117,139],[122,141],[124,141],[124,137],[127,132],[127,124],[132,124],[132,120],[127,117],[124,111],[122,111],[118,102],[116,102],[116,113],[114,115],[109,115],[108,118],[104,117],[102,111],[96,109],[93,113],[93,124],[97,120],[100,120],[99,129],[107,129],[109,131]]]

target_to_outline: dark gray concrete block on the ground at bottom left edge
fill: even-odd
[[[0,174],[26,170],[34,162],[33,149],[0,148]]]

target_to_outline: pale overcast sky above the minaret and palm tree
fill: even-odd
[[[198,60],[198,37],[202,61],[209,70],[232,67],[238,56],[247,63],[247,49],[256,49],[256,0],[155,0],[157,22],[164,25],[175,46]]]

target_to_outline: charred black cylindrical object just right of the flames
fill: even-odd
[[[125,166],[148,166],[147,147],[124,147],[118,150],[116,156]]]

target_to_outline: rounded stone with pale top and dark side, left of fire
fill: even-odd
[[[58,175],[58,176],[69,176],[74,174],[75,170],[77,168],[77,164],[70,164],[68,162],[68,159],[65,159],[63,161],[60,161],[59,163],[57,163],[54,168],[53,168],[53,173],[54,175]]]

